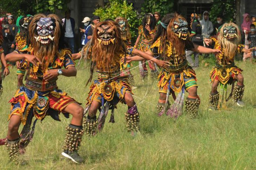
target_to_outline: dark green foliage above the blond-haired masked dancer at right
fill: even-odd
[[[217,16],[222,15],[224,22],[234,21],[235,0],[214,0],[210,10],[210,21],[216,23]]]

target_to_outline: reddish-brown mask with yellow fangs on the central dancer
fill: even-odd
[[[97,34],[98,37],[97,40],[99,41],[99,43],[103,44],[103,45],[109,45],[109,44],[114,44],[114,28],[110,27],[109,25],[101,25],[100,27],[97,27]]]

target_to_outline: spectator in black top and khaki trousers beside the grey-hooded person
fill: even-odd
[[[191,23],[190,23],[191,33],[189,36],[192,38],[192,41],[193,41],[194,36],[197,36],[197,37],[201,36],[202,27],[200,25],[200,22],[198,21],[197,14],[195,13],[191,14],[190,19],[191,19]],[[197,42],[193,41],[193,43],[196,45],[203,45],[203,37],[201,36],[201,40],[198,39]],[[193,54],[194,54],[195,62],[192,59]],[[193,67],[194,69],[199,67],[199,53],[188,50],[186,51],[186,58],[191,67]]]

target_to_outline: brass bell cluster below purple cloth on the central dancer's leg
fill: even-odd
[[[140,113],[135,113],[135,114],[129,114],[129,113],[124,113],[125,118],[126,118],[126,128],[128,132],[134,132],[134,131],[139,131],[140,130]]]

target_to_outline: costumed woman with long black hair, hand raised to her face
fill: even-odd
[[[146,14],[142,20],[142,25],[139,27],[139,36],[135,42],[134,47],[140,51],[146,52],[149,50],[153,43],[153,39],[156,34],[156,20],[153,14]],[[143,63],[143,64],[142,64]],[[157,78],[158,72],[154,65],[154,62],[149,61],[149,67],[151,69],[151,78]],[[139,61],[140,75],[142,79],[148,76],[148,69],[145,60]]]

